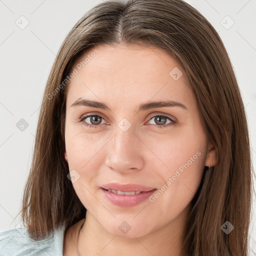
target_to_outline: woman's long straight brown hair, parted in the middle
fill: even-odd
[[[192,200],[183,251],[194,256],[247,256],[252,166],[243,102],[219,35],[182,0],[102,2],[64,39],[44,90],[23,194],[21,217],[28,233],[42,238],[61,224],[67,229],[85,217],[64,159],[66,90],[77,58],[104,43],[153,45],[180,62],[218,160],[204,173]],[[221,230],[225,221],[234,226],[229,234]]]

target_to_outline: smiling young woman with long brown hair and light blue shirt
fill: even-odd
[[[107,1],[53,63],[8,255],[248,255],[251,160],[235,75],[181,0]]]

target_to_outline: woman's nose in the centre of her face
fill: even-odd
[[[117,129],[114,137],[107,143],[105,164],[120,173],[139,170],[143,167],[143,143],[130,128]]]

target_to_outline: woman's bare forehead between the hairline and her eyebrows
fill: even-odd
[[[68,84],[68,104],[78,97],[102,98],[110,105],[192,99],[180,63],[154,46],[98,45],[81,55],[73,68],[77,73]]]

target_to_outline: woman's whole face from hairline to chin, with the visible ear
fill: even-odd
[[[181,65],[152,46],[99,45],[73,68],[65,159],[86,214],[118,236],[179,228],[214,163]]]

